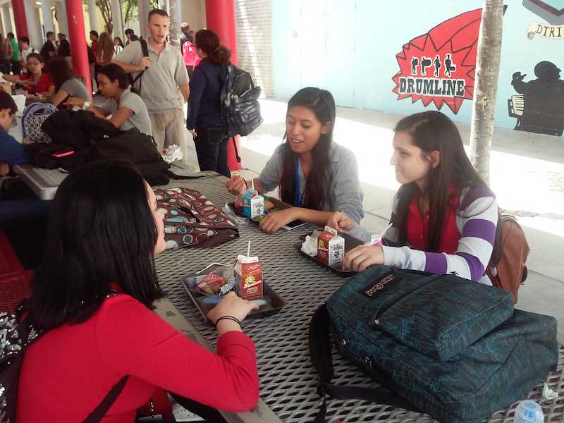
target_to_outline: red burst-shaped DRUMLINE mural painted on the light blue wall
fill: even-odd
[[[462,13],[412,39],[396,55],[400,71],[393,76],[398,100],[421,100],[436,109],[446,104],[458,113],[474,95],[474,72],[482,9]]]

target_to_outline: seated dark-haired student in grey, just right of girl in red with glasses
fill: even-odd
[[[55,106],[65,104],[70,97],[78,97],[85,102],[91,101],[86,86],[76,78],[66,59],[62,57],[51,59],[47,65],[47,73],[55,82],[55,92],[49,99]]]

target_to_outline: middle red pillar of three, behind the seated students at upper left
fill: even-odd
[[[88,92],[92,92],[90,65],[88,64],[88,50],[85,39],[84,13],[82,12],[82,0],[64,1],[66,2],[68,37],[69,42],[71,43],[73,56],[73,71],[75,75],[85,79]]]

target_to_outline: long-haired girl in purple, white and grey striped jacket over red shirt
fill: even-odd
[[[362,271],[373,264],[454,273],[491,285],[486,267],[496,238],[494,194],[468,159],[453,121],[425,111],[398,122],[391,164],[401,183],[384,245],[361,245],[345,255],[343,268]],[[369,240],[369,234],[337,212],[328,222]]]

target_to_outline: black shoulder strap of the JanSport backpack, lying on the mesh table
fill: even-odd
[[[405,410],[419,412],[416,407],[408,403],[402,396],[386,388],[367,388],[358,385],[333,385],[333,359],[331,358],[331,343],[329,343],[329,312],[326,304],[321,305],[309,323],[309,356],[319,375],[319,396],[323,403],[315,416],[314,423],[325,422],[327,414],[326,394],[338,400],[364,400],[373,403],[391,405]]]

